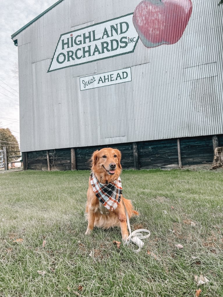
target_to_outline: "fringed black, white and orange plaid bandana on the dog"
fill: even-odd
[[[122,195],[122,183],[119,177],[116,181],[109,184],[102,184],[98,181],[94,173],[90,175],[90,181],[98,200],[107,209],[114,211],[117,208]]]

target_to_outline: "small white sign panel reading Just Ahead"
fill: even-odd
[[[115,85],[131,81],[131,68],[125,68],[86,77],[80,77],[81,91],[95,89],[103,86]]]

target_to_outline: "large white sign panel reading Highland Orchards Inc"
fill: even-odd
[[[132,15],[62,34],[48,72],[133,53],[139,36]]]

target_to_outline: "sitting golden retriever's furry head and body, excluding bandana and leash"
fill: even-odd
[[[119,179],[122,171],[120,160],[121,153],[117,149],[104,148],[100,151],[97,150],[93,153],[91,158],[92,174],[101,184],[114,184]],[[125,203],[129,218],[133,214],[138,215],[138,212],[133,209],[131,201],[122,196],[122,192],[119,197],[120,202],[117,203],[117,207],[111,210],[106,208],[106,212],[108,214],[104,214],[105,208],[102,212],[100,209],[101,204],[99,203],[99,198],[97,198],[93,190],[90,176],[87,191],[86,218],[88,220],[88,225],[85,233],[86,235],[93,230],[94,226],[103,229],[108,229],[112,226],[120,226],[122,239],[124,241],[126,240],[129,234],[123,202]]]

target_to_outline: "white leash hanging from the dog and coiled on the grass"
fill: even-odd
[[[140,252],[140,250],[144,246],[144,243],[142,242],[141,239],[145,239],[145,238],[150,237],[150,231],[146,230],[146,229],[138,229],[138,230],[135,230],[135,231],[132,232],[131,227],[130,227],[130,223],[129,223],[128,211],[127,211],[127,209],[125,207],[124,201],[123,201],[123,204],[124,204],[124,208],[125,208],[125,215],[126,215],[127,226],[128,226],[128,230],[129,230],[129,236],[126,239],[125,244],[128,245],[131,242],[136,244],[139,248],[138,249],[133,249],[133,251],[135,253],[138,253],[138,252]],[[140,232],[146,232],[146,233],[149,233],[149,234],[143,236],[142,233],[140,233]]]

